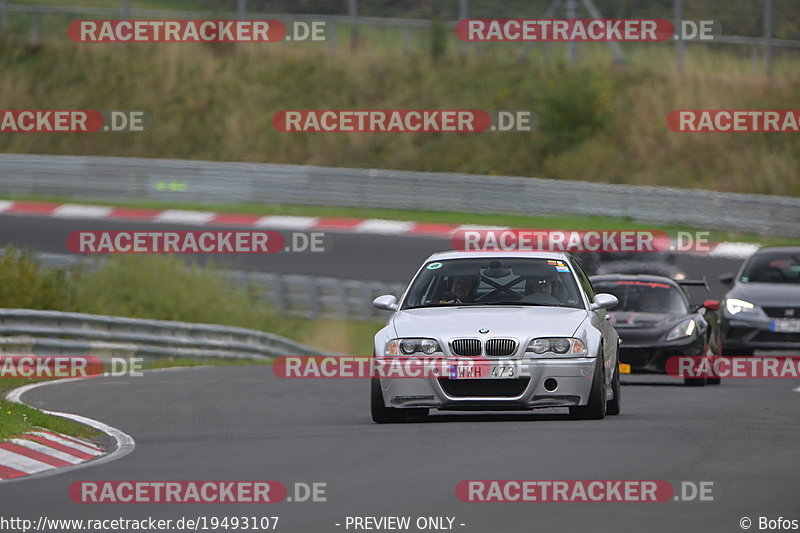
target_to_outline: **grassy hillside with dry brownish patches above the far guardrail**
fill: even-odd
[[[385,32],[388,33],[388,32]],[[365,42],[368,34],[363,32]],[[778,54],[766,80],[749,49],[691,46],[684,72],[663,43],[630,47],[629,65],[605,46],[563,49],[492,43],[436,60],[425,46],[351,52],[327,46],[0,44],[0,101],[14,109],[127,109],[150,114],[141,133],[6,134],[0,151],[170,157],[535,176],[800,195],[800,137],[679,134],[674,109],[790,109],[800,89],[796,54]],[[394,44],[391,44],[394,42]],[[627,48],[626,48],[627,49]],[[531,110],[529,133],[280,133],[282,109]]]

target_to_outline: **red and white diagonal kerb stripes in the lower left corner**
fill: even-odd
[[[80,464],[104,452],[82,439],[36,429],[0,442],[0,480]]]

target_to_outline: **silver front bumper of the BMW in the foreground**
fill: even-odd
[[[596,358],[493,359],[520,365],[515,379],[380,378],[387,407],[519,410],[586,405]],[[455,360],[453,361],[455,364]],[[548,388],[545,381],[548,381]],[[555,380],[555,387],[552,386]]]

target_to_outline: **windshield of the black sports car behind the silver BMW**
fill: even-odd
[[[654,281],[616,280],[594,281],[595,291],[613,294],[619,304],[613,313],[686,314],[689,305],[680,289],[668,283]]]

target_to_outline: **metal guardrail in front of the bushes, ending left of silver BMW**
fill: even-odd
[[[264,359],[326,355],[292,340],[245,328],[84,313],[0,309],[0,353],[95,357]]]

